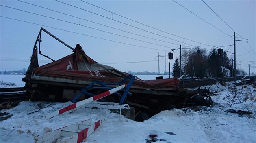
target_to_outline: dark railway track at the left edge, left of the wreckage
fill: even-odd
[[[24,87],[17,88],[0,88],[0,102],[26,100],[28,96],[25,94]]]

